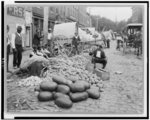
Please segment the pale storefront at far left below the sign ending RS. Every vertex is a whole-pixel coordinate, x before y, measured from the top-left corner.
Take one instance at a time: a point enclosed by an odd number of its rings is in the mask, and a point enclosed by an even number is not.
[[[6,9],[5,23],[9,25],[10,34],[16,32],[17,26],[21,26],[24,47],[31,47],[31,11],[26,11],[26,8],[21,6],[8,6]]]

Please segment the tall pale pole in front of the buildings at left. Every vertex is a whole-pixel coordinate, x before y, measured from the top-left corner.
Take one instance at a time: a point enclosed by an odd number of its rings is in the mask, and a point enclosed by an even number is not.
[[[48,18],[49,18],[49,7],[44,7],[44,40],[43,45],[47,43],[47,34],[48,34]]]

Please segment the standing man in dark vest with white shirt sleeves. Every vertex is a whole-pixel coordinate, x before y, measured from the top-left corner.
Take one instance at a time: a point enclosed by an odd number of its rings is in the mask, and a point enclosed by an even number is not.
[[[13,67],[20,68],[23,51],[23,40],[21,36],[22,27],[17,27],[17,32],[12,35],[12,49],[13,49]]]

